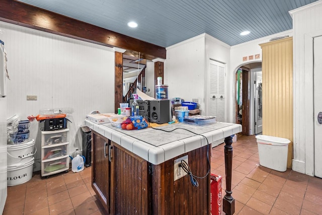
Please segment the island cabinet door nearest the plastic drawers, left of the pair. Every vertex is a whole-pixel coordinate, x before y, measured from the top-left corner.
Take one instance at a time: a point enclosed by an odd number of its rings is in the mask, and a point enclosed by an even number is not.
[[[110,213],[110,171],[109,148],[111,140],[92,133],[92,187],[102,202],[106,211]]]

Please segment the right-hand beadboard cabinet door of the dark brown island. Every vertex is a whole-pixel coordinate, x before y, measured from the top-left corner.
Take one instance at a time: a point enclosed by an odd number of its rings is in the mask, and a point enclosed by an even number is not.
[[[148,162],[112,142],[111,211],[115,214],[148,214]],[[115,208],[114,208],[115,207]]]

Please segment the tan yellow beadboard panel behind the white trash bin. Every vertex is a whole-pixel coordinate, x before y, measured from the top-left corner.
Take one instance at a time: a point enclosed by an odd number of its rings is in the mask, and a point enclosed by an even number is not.
[[[261,44],[263,49],[263,134],[293,141],[293,38]]]

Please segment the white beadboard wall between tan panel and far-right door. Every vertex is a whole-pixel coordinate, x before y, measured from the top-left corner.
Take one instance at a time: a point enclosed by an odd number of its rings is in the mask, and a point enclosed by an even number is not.
[[[314,175],[313,37],[322,35],[322,1],[295,9],[293,16],[294,150],[292,169]]]

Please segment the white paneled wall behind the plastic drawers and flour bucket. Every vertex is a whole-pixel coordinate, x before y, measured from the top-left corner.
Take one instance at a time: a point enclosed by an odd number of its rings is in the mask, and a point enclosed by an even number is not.
[[[26,120],[43,108],[72,108],[69,154],[82,148],[79,125],[93,110],[114,112],[114,51],[101,45],[62,37],[0,22],[8,52],[7,117]],[[36,95],[37,101],[27,101]],[[40,169],[41,136],[39,123],[31,122],[30,138],[38,149]]]

